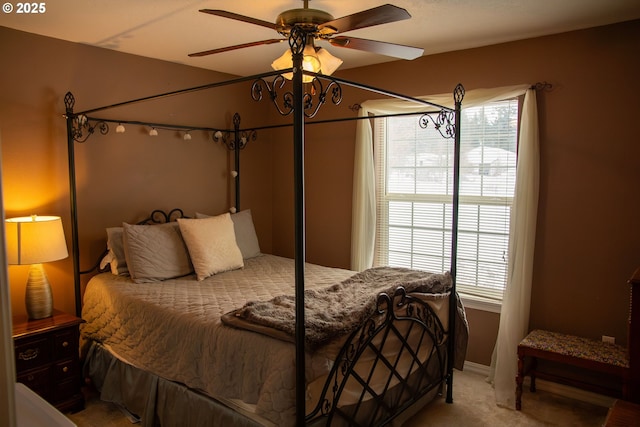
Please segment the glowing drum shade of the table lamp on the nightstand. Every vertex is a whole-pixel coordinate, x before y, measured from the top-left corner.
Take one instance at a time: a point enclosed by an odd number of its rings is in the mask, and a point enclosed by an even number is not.
[[[9,264],[40,264],[69,256],[59,216],[7,219],[5,236]]]

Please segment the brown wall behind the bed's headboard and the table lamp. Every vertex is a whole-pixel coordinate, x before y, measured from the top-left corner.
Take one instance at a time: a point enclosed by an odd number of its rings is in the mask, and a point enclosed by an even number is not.
[[[5,64],[0,81],[5,215],[61,216],[69,248],[65,93],[73,92],[74,111],[80,112],[232,77],[3,27],[0,58]],[[268,105],[247,102],[248,94],[247,85],[225,87],[94,115],[227,129],[239,111],[242,125],[263,124],[256,119],[264,117]],[[148,131],[127,125],[120,135],[112,124],[108,135],[75,144],[83,269],[104,250],[106,227],[139,221],[157,208],[180,207],[193,215],[196,211],[222,213],[235,204],[229,178],[232,154],[214,143],[210,133],[195,131],[191,141],[184,141],[177,132],[160,130],[159,136],[151,138]],[[255,211],[265,251],[271,249],[270,156],[268,134],[259,135],[241,154],[241,207]],[[71,258],[47,263],[45,270],[53,287],[54,307],[75,312]],[[9,267],[14,314],[25,313],[27,271],[27,266]]]

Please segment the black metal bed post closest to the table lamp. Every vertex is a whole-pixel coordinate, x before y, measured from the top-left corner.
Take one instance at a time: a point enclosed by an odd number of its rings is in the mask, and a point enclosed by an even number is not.
[[[69,157],[69,202],[71,208],[71,258],[73,260],[73,285],[76,303],[76,316],[82,314],[82,293],[80,292],[80,250],[78,249],[78,203],[76,194],[76,167],[73,120],[73,106],[76,100],[71,92],[64,97],[65,118],[67,120],[67,153]]]

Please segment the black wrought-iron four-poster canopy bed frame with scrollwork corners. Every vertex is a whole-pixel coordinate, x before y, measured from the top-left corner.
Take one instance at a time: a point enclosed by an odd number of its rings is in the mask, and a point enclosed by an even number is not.
[[[84,142],[89,136],[91,136],[96,130],[102,134],[108,132],[108,123],[132,123],[132,124],[145,124],[156,127],[167,127],[170,129],[185,129],[185,130],[206,130],[213,133],[213,139],[216,141],[223,141],[227,148],[234,150],[235,153],[235,170],[239,172],[239,152],[244,148],[250,139],[256,138],[256,132],[261,129],[271,129],[282,126],[291,125],[275,125],[256,127],[251,129],[240,128],[240,116],[236,114],[233,118],[234,128],[232,130],[215,129],[215,128],[202,128],[192,126],[178,126],[178,125],[165,125],[159,123],[149,122],[137,122],[127,120],[111,120],[96,118],[92,115],[107,109],[117,108],[124,105],[130,105],[139,102],[152,101],[159,98],[165,98],[174,95],[180,95],[189,92],[200,91],[204,89],[212,89],[216,87],[222,87],[226,85],[232,85],[242,82],[253,81],[251,86],[251,96],[254,100],[260,101],[264,97],[264,91],[268,92],[268,95],[273,104],[278,109],[279,113],[283,116],[292,115],[293,117],[293,143],[294,143],[294,210],[295,210],[295,301],[303,301],[305,297],[305,186],[304,186],[304,141],[305,141],[305,124],[316,123],[330,123],[343,120],[357,120],[358,118],[346,118],[346,119],[334,119],[326,121],[312,121],[305,123],[305,119],[315,117],[319,108],[330,98],[334,104],[339,104],[342,100],[342,86],[354,87],[356,89],[365,90],[372,93],[378,93],[388,97],[406,100],[408,102],[423,104],[425,106],[425,112],[420,118],[421,125],[426,125],[431,121],[435,128],[445,138],[453,139],[454,141],[454,165],[453,165],[453,197],[452,197],[452,225],[451,225],[451,269],[450,276],[452,279],[450,296],[449,296],[449,310],[448,310],[448,331],[442,327],[439,321],[437,321],[436,332],[431,330],[429,334],[433,335],[435,341],[444,342],[444,335],[446,338],[446,362],[441,364],[446,370],[446,374],[443,379],[447,384],[447,396],[446,401],[451,403],[453,401],[452,394],[452,380],[453,380],[453,367],[454,367],[454,354],[455,354],[455,325],[459,322],[457,318],[457,309],[459,307],[459,301],[457,299],[455,288],[456,277],[456,254],[457,254],[457,228],[458,228],[458,192],[459,192],[459,165],[460,165],[460,111],[461,103],[464,97],[464,88],[462,85],[458,85],[453,93],[455,108],[447,108],[439,105],[435,105],[423,100],[412,98],[409,96],[393,93],[390,91],[378,89],[372,86],[358,84],[355,82],[347,81],[335,77],[327,77],[321,74],[307,72],[302,70],[302,52],[307,39],[304,29],[294,28],[291,31],[289,37],[289,45],[292,52],[293,67],[288,70],[281,70],[278,72],[264,73],[256,76],[242,77],[230,81],[213,83],[209,85],[203,85],[198,87],[192,87],[183,90],[177,90],[158,95],[153,95],[144,98],[138,98],[130,101],[125,101],[113,105],[108,105],[100,108],[94,108],[82,112],[74,112],[75,99],[69,92],[65,96],[66,107],[66,121],[67,121],[67,135],[68,135],[68,153],[69,153],[69,179],[70,179],[70,201],[71,201],[71,216],[72,216],[72,245],[73,245],[73,266],[74,266],[74,281],[75,281],[75,295],[76,295],[76,311],[78,315],[82,312],[82,292],[80,284],[80,262],[79,262],[79,243],[78,243],[78,216],[77,216],[77,185],[75,175],[75,158],[74,158],[74,144],[76,142]],[[282,89],[285,85],[285,80],[281,73],[291,72],[292,78],[292,92],[285,92],[282,97],[282,101],[278,100],[278,90]],[[314,95],[305,92],[305,86],[303,84],[303,75],[313,76],[313,82],[311,86],[314,89]],[[273,78],[268,81],[267,79]],[[326,87],[323,84],[326,83]],[[279,103],[281,102],[281,103]],[[436,110],[436,111],[434,111]],[[236,177],[239,179],[239,175]],[[239,193],[239,181],[236,181],[235,185],[235,203],[236,208],[240,206],[240,193]],[[318,420],[318,414],[322,414],[324,418],[323,422],[331,424],[332,420],[341,419],[342,422],[346,422],[349,425],[357,425],[355,416],[351,414],[340,414],[340,407],[338,400],[344,387],[344,380],[350,376],[356,376],[355,369],[349,366],[348,363],[357,362],[359,352],[362,351],[362,347],[365,345],[371,346],[372,340],[380,332],[375,328],[382,328],[384,333],[387,334],[389,329],[396,328],[393,322],[398,320],[412,320],[421,324],[432,323],[435,316],[431,312],[431,309],[427,304],[423,303],[419,298],[415,298],[410,294],[404,292],[403,289],[396,291],[395,295],[391,298],[388,295],[381,294],[377,303],[377,314],[385,314],[387,321],[378,325],[372,321],[369,326],[363,326],[354,332],[346,341],[346,345],[340,351],[338,358],[335,361],[335,365],[331,370],[331,374],[327,379],[324,390],[323,404],[318,404],[318,407],[313,411],[311,415],[305,417],[305,305],[295,304],[295,379],[296,379],[296,425],[305,425],[314,420]],[[406,310],[402,315],[398,315],[395,309],[398,307],[404,307]],[[461,307],[461,306],[460,306]],[[437,319],[436,319],[437,320]],[[428,325],[433,328],[433,325]],[[422,327],[425,327],[424,325]],[[425,327],[426,328],[426,327]],[[395,329],[394,329],[395,330]],[[398,333],[396,333],[398,334]],[[424,334],[424,332],[423,332]],[[400,334],[402,335],[402,334]],[[439,336],[437,336],[439,335]],[[408,333],[407,333],[408,336]],[[405,339],[407,338],[405,336]],[[385,335],[386,337],[386,335]],[[402,337],[400,337],[402,339]],[[385,338],[386,339],[386,338]],[[383,340],[384,341],[384,340]],[[400,352],[407,349],[407,352],[411,353],[415,349],[411,349],[410,345],[406,342],[403,343],[403,347]],[[438,354],[441,357],[442,354]],[[391,365],[393,362],[389,362],[383,355],[378,354],[376,363],[384,363]],[[422,364],[417,354],[413,354],[414,361],[412,363]],[[442,362],[442,361],[441,361]],[[397,363],[397,362],[396,362]],[[389,367],[390,369],[391,366]],[[416,394],[409,398],[398,397],[393,405],[389,405],[384,400],[384,396],[374,392],[371,387],[366,384],[367,379],[356,378],[356,380],[362,383],[363,391],[362,395],[369,393],[373,395],[374,406],[385,406],[385,412],[382,415],[374,416],[374,420],[380,424],[387,424],[397,417],[402,411],[406,410],[411,405],[415,404],[421,396],[421,393],[426,391],[432,391],[434,385],[429,385],[428,390],[416,391],[412,387],[411,383],[414,379],[401,377],[398,373],[393,371],[393,375],[398,377],[397,380],[401,383],[401,388],[404,389],[406,394],[407,390],[409,394]],[[340,380],[344,380],[342,383]],[[396,378],[394,378],[396,381]],[[442,382],[440,387],[442,387]],[[419,387],[418,387],[419,388]],[[389,384],[384,388],[384,391],[390,389]],[[333,393],[333,400],[330,395]],[[402,393],[400,393],[402,394]],[[337,397],[336,397],[337,396]],[[361,400],[356,406],[360,406]],[[394,406],[395,405],[395,406]],[[375,411],[379,411],[375,409]],[[357,412],[357,409],[356,411]],[[355,413],[354,412],[354,413]],[[337,415],[336,415],[337,414]],[[315,418],[314,418],[315,417]]]

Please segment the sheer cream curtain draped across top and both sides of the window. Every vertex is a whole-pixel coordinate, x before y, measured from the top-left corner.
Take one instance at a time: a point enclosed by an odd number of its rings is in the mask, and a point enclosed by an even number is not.
[[[517,371],[516,348],[529,326],[531,276],[538,210],[539,143],[535,91],[530,85],[474,89],[465,93],[462,108],[492,101],[524,97],[520,119],[516,191],[511,213],[507,287],[502,302],[498,339],[491,362],[491,380],[496,402],[513,406]],[[419,97],[453,108],[453,93]],[[365,101],[359,115],[426,111],[425,105],[397,99]],[[359,120],[353,176],[351,269],[362,271],[373,265],[376,229],[373,132],[369,120]]]

